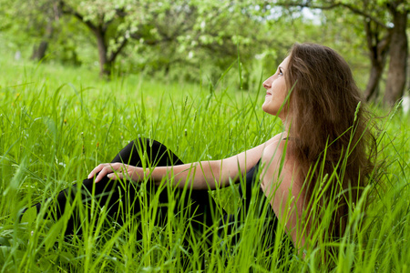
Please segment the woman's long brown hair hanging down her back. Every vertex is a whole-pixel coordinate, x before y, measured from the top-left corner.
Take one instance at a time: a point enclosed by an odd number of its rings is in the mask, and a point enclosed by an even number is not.
[[[361,196],[365,177],[374,169],[371,114],[350,67],[327,46],[293,45],[285,80],[292,87],[289,147],[301,170],[305,204],[322,190],[320,207],[336,205],[328,235],[341,238],[349,207]],[[316,163],[320,166],[314,167]],[[323,176],[334,171],[338,177],[329,181],[331,187],[319,189]]]

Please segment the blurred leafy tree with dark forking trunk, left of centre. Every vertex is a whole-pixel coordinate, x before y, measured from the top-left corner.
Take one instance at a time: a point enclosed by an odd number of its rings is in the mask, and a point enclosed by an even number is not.
[[[235,1],[59,0],[59,4],[63,14],[75,16],[95,36],[101,75],[110,75],[118,55],[131,40],[137,44],[167,44],[186,50],[191,46],[215,48],[221,45],[220,51],[237,55],[236,45],[230,46],[234,50],[226,50],[233,34],[226,31],[232,23],[229,20],[231,14],[225,8],[236,9],[239,5]],[[223,19],[225,25],[207,28],[206,33],[200,26],[213,21],[221,24]],[[180,45],[174,44],[177,41]],[[178,60],[180,58],[174,58],[174,61]]]

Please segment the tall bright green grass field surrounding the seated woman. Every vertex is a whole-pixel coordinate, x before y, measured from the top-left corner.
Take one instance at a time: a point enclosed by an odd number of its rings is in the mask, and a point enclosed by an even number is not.
[[[8,60],[0,60],[0,66],[2,272],[410,271],[410,116],[393,111],[380,120],[384,190],[369,187],[375,201],[366,219],[358,204],[351,237],[335,245],[339,254],[327,265],[315,255],[321,243],[306,249],[305,258],[293,254],[279,261],[278,251],[267,256],[258,243],[260,224],[252,219],[240,230],[241,241],[228,243],[231,255],[220,251],[228,235],[211,236],[208,251],[201,236],[190,237],[187,247],[188,219],[172,218],[167,227],[155,227],[149,211],[141,215],[145,221],[129,221],[126,227],[101,227],[90,217],[82,237],[64,240],[64,218],[55,224],[29,211],[19,222],[19,210],[81,181],[130,140],[155,138],[191,162],[256,146],[281,132],[282,124],[261,111],[264,93],[258,86],[245,92],[223,81],[191,85],[144,75],[106,82],[94,71],[69,67]],[[236,211],[237,187],[212,194],[228,212]],[[132,232],[136,225],[143,226],[142,240]],[[280,244],[277,240],[275,248]]]

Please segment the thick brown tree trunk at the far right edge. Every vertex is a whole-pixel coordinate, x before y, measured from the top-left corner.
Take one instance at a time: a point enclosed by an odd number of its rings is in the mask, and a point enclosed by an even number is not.
[[[405,92],[406,62],[408,41],[405,34],[408,11],[399,11],[397,6],[390,7],[393,15],[392,44],[390,47],[390,63],[385,86],[384,103],[392,106]]]

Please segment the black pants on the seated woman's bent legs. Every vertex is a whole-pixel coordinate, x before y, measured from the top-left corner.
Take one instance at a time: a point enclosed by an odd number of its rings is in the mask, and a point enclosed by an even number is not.
[[[142,167],[143,163],[158,167],[182,164],[179,157],[173,154],[167,147],[158,141],[147,138],[131,141],[111,161],[111,163],[116,162],[137,167]],[[156,225],[163,227],[167,223],[170,211],[167,206],[169,204],[169,193],[172,194],[173,201],[177,201],[177,206],[173,209],[173,213],[177,217],[180,214],[184,214],[185,218],[190,218],[190,225],[198,231],[204,231],[204,227],[210,227],[220,218],[220,213],[218,213],[208,190],[167,188],[166,186],[155,186],[149,182],[138,183],[128,180],[110,180],[108,177],[104,177],[98,183],[94,183],[93,179],[85,179],[81,185],[75,184],[61,191],[54,202],[51,202],[46,217],[53,217],[56,220],[60,218],[65,213],[67,204],[72,204],[78,189],[81,190],[81,202],[87,207],[88,215],[91,214],[91,200],[95,200],[95,204],[99,208],[107,207],[107,218],[109,221],[111,223],[116,222],[119,225],[123,225],[127,220],[130,220],[126,218],[129,216],[135,217],[138,221],[138,215],[143,206],[149,206],[149,197],[158,195],[160,206],[158,206],[154,219]],[[144,202],[141,203],[140,193],[142,189],[145,189],[147,197],[144,197]],[[35,206],[38,212],[41,204],[38,203]],[[100,210],[97,209],[95,211],[98,212]],[[98,217],[96,213],[94,215]],[[78,209],[75,207],[67,222],[66,235],[81,234],[80,223],[81,217]],[[141,231],[138,231],[138,237],[141,237]]]

